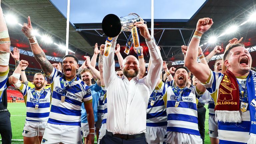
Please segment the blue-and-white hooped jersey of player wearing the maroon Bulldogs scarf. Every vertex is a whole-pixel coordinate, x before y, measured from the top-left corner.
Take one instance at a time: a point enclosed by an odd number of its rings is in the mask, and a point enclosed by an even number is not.
[[[217,104],[218,99],[218,88],[220,82],[223,78],[223,74],[212,71],[207,82],[202,83],[206,89],[211,93],[211,96]],[[245,83],[243,80],[237,78],[241,86],[244,88]],[[246,78],[245,78],[246,82]],[[240,97],[240,104],[242,98]],[[240,106],[239,106],[240,107]],[[251,127],[251,118],[250,118],[250,107],[247,108],[246,112],[241,112],[240,115],[242,118],[241,123],[229,123],[229,122],[220,122],[218,121],[218,133],[220,144],[244,144],[247,143],[250,138],[250,127]]]

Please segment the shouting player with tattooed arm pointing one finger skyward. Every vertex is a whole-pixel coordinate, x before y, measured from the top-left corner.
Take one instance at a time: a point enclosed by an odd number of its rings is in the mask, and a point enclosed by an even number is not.
[[[31,50],[43,72],[51,79],[52,86],[51,111],[42,143],[81,144],[81,104],[84,103],[87,111],[89,129],[94,128],[94,116],[90,88],[76,76],[79,68],[78,59],[74,55],[64,56],[63,73],[53,68],[32,34],[32,30],[30,17],[28,17],[28,24],[23,24],[22,32],[28,37]],[[94,134],[89,134],[87,139],[92,144]]]

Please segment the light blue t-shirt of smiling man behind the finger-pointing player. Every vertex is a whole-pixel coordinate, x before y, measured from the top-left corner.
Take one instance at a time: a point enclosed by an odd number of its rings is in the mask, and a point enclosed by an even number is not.
[[[98,120],[97,119],[98,103],[99,103],[99,97],[102,89],[100,86],[97,85],[97,83],[89,86],[89,88],[91,88],[94,121],[96,122]],[[82,104],[81,106],[81,123],[88,123],[84,104]]]

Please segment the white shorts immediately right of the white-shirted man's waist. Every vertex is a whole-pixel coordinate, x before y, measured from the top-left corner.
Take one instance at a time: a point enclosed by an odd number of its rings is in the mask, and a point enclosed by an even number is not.
[[[150,127],[146,126],[146,141],[148,144],[163,143],[167,126]]]

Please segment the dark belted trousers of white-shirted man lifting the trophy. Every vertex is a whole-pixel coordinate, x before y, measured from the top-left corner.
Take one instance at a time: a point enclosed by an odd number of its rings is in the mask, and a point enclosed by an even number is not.
[[[117,137],[112,137],[110,135],[105,135],[101,140],[100,144],[148,144],[146,142],[146,137],[139,137],[135,139],[121,139]]]

